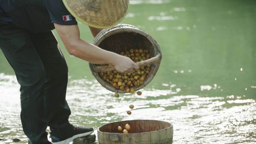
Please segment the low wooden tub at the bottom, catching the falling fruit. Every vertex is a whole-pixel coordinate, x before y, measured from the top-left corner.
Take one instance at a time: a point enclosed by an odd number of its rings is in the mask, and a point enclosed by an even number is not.
[[[128,134],[118,131],[118,126],[125,129],[129,124]],[[172,144],[173,125],[159,120],[128,120],[114,122],[98,128],[99,144]]]

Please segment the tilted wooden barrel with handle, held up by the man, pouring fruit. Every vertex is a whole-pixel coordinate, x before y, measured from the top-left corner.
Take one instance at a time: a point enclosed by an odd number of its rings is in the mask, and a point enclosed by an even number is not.
[[[133,25],[119,24],[115,27],[104,29],[95,37],[93,44],[115,53],[120,53],[133,48],[149,49],[150,58],[160,55],[160,60],[155,64],[151,64],[149,74],[147,75],[144,84],[135,88],[135,91],[144,88],[153,79],[158,71],[162,58],[162,53],[158,43],[145,31],[140,30]],[[117,90],[112,85],[101,79],[98,72],[95,71],[96,66],[98,65],[89,62],[92,75],[104,88],[112,92],[126,93],[125,90]]]

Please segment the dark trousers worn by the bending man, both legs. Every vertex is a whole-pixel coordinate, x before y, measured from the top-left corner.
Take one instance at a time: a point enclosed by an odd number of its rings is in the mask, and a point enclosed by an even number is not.
[[[68,68],[51,31],[31,33],[0,21],[0,49],[13,68],[20,87],[21,123],[33,142],[45,143],[47,126],[68,125],[65,100]]]

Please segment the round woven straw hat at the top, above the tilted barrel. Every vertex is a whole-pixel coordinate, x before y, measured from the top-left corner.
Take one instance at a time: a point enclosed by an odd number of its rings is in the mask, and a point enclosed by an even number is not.
[[[95,28],[109,28],[127,14],[129,0],[63,0],[68,11],[79,21]]]

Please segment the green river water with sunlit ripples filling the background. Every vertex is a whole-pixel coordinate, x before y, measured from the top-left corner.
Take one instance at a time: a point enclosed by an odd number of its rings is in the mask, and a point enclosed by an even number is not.
[[[115,98],[57,36],[69,68],[71,123],[97,133],[115,121],[164,120],[173,124],[174,144],[256,143],[255,0],[130,0],[122,23],[159,43],[163,58],[155,78],[141,96]],[[79,27],[92,42],[88,27]],[[19,113],[19,85],[0,52],[0,143],[27,142]]]

